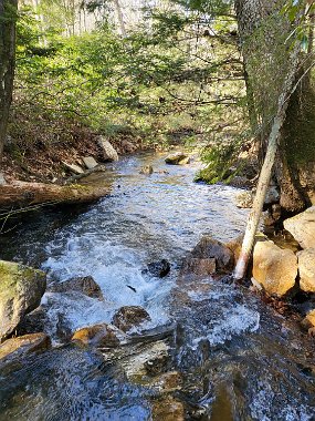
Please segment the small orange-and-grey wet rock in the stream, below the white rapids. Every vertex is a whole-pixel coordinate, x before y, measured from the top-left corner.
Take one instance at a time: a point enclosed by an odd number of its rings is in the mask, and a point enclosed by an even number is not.
[[[76,330],[72,337],[73,341],[99,348],[115,348],[119,346],[120,339],[119,330],[107,324],[84,327]]]

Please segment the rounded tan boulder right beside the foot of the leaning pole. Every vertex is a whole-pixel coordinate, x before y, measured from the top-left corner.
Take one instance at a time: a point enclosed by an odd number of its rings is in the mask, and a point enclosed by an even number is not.
[[[294,285],[297,258],[290,249],[273,242],[258,242],[253,253],[253,278],[270,295],[283,296]]]

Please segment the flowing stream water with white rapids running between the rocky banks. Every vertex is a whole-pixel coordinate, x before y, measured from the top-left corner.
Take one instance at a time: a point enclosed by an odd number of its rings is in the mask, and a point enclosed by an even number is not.
[[[139,174],[148,164],[157,173]],[[233,188],[195,184],[195,172],[166,166],[162,155],[127,157],[98,175],[113,191],[97,204],[33,218],[14,243],[2,236],[1,258],[41,266],[51,281],[91,275],[105,300],[45,294],[55,347],[0,372],[0,420],[177,420],[181,404],[186,419],[315,419],[314,347],[297,326],[242,287],[177,281],[180,260],[201,235],[231,239],[246,218]],[[161,258],[171,271],[158,279],[145,269]],[[111,322],[128,305],[149,312],[147,332],[166,333],[111,352],[62,345],[61,320],[74,331]],[[139,376],[148,359],[179,372],[180,386],[167,393],[154,383],[157,372]]]

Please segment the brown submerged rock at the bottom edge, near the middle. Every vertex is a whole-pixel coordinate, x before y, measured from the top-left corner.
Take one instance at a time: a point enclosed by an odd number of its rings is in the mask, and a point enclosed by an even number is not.
[[[172,397],[167,397],[153,403],[154,421],[183,421],[183,404]]]

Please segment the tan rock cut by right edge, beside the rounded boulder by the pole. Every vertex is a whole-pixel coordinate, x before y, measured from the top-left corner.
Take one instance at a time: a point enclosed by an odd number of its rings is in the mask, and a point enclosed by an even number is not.
[[[300,288],[305,292],[315,292],[315,248],[297,253]]]

